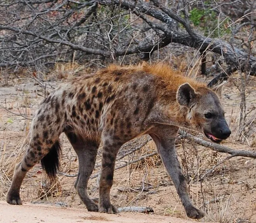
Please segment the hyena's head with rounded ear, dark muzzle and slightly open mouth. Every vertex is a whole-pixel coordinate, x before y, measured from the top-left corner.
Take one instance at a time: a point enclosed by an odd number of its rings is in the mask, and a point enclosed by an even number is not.
[[[231,134],[217,96],[221,95],[221,89],[222,86],[214,92],[202,86],[195,91],[189,83],[184,83],[177,91],[178,103],[187,107],[189,128],[205,134],[213,142],[221,142]]]

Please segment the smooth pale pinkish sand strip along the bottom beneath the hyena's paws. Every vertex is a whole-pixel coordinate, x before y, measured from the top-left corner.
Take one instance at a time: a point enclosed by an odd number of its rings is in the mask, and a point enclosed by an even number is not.
[[[0,202],[1,223],[195,223],[175,217],[138,213],[102,214],[82,209],[63,208],[38,204],[21,206]]]

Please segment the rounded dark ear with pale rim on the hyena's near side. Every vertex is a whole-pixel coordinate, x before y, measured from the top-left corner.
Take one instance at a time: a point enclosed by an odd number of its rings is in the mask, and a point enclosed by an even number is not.
[[[196,97],[195,90],[189,83],[180,85],[177,91],[177,101],[180,105],[190,107]]]

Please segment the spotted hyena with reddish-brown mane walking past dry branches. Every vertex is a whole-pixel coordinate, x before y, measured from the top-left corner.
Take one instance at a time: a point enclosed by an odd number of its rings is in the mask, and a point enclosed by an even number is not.
[[[50,177],[55,176],[59,135],[65,132],[79,159],[75,188],[80,199],[88,211],[117,213],[109,192],[118,149],[132,138],[149,134],[187,216],[200,219],[204,213],[193,206],[177,159],[175,138],[179,127],[202,132],[214,142],[231,134],[216,92],[164,64],[111,65],[62,85],[40,104],[34,116],[31,140],[15,167],[7,202],[22,204],[21,183],[38,161]],[[88,196],[87,184],[100,143],[103,148],[97,205]]]

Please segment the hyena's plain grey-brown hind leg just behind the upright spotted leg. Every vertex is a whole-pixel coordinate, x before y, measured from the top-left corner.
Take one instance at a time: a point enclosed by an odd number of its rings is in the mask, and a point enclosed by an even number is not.
[[[65,132],[76,151],[79,162],[78,177],[75,182],[76,191],[89,212],[97,212],[97,204],[87,193],[88,180],[94,170],[99,144],[95,141],[82,139],[73,132]]]

